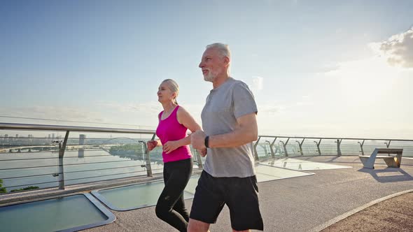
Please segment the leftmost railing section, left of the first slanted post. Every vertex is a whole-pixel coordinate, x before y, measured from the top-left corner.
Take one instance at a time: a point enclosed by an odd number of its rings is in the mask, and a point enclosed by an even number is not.
[[[57,187],[61,131],[8,131],[0,138],[0,180],[5,191]],[[13,134],[14,136],[9,136]],[[49,136],[50,135],[50,136]]]

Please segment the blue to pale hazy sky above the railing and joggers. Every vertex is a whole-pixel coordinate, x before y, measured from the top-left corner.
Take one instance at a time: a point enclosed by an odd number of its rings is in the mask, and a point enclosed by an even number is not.
[[[155,129],[162,80],[197,122],[205,46],[232,51],[260,135],[413,139],[413,1],[0,1],[0,122]],[[40,120],[40,119],[49,120]],[[0,131],[0,135],[2,132]]]

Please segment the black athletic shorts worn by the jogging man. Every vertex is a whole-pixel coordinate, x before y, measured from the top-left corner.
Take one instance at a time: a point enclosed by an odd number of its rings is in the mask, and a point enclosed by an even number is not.
[[[225,204],[230,209],[232,229],[264,229],[255,175],[242,178],[213,177],[202,171],[189,217],[214,224]]]

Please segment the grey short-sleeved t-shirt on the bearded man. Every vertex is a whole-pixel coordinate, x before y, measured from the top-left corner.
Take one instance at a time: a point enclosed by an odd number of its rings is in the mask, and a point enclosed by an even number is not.
[[[254,96],[240,80],[228,78],[212,89],[202,110],[202,128],[207,136],[234,131],[237,118],[257,113]],[[253,143],[239,147],[208,148],[204,171],[214,177],[249,177],[255,175]]]

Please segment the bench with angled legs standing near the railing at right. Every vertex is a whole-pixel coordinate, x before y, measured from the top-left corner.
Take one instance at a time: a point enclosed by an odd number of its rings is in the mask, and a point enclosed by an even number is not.
[[[395,156],[377,156],[377,154],[395,154]],[[374,161],[376,159],[384,159],[388,167],[391,168],[400,168],[400,164],[402,162],[402,149],[394,149],[394,148],[376,148],[374,152],[368,155],[360,155],[360,161],[363,163],[365,168],[372,168],[374,169]]]

